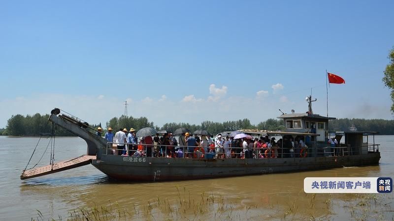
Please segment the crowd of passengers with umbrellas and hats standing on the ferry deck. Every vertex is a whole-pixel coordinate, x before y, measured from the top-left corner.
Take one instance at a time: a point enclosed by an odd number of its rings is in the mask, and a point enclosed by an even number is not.
[[[98,136],[101,136],[101,130],[98,129]],[[155,137],[142,137],[138,142],[133,128],[130,131],[126,128],[119,129],[116,134],[112,133],[112,128],[108,128],[104,138],[116,143],[108,154],[137,157],[199,158],[202,156],[201,153],[213,153],[216,158],[294,158],[306,157],[307,148],[303,136],[293,139],[289,135],[275,141],[276,138],[268,136],[234,139],[229,136],[223,138],[219,134],[214,139],[210,135],[192,136],[185,133],[177,140],[172,133],[167,133],[163,136],[156,134]]]

